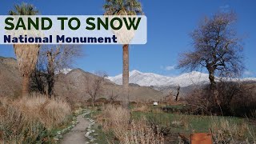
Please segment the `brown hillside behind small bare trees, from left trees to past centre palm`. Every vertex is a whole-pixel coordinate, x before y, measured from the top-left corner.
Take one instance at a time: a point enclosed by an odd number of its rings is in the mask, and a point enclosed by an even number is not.
[[[71,70],[68,74],[59,75],[55,85],[56,94],[64,97],[72,96],[81,100],[88,99],[90,96],[86,94],[86,85],[93,82],[95,77],[97,76],[81,69]],[[87,80],[90,82],[87,82]],[[98,98],[110,98],[112,90],[114,95],[118,94],[118,100],[122,100],[122,86],[116,85],[108,79],[104,82],[102,93]],[[150,87],[130,86],[130,101],[158,100],[162,96],[161,92]]]

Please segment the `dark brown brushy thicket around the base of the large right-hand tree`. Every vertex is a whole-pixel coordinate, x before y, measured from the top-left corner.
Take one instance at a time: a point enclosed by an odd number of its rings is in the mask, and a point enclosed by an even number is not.
[[[194,114],[218,114],[254,118],[255,85],[238,82],[218,82],[219,104],[210,98],[209,87],[195,89],[186,97]]]

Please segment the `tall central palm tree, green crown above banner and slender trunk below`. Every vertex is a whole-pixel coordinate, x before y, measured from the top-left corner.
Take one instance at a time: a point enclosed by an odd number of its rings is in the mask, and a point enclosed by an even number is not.
[[[143,14],[138,0],[106,0],[104,15],[139,15]],[[122,46],[122,87],[126,97],[124,105],[128,106],[129,97],[129,45]]]

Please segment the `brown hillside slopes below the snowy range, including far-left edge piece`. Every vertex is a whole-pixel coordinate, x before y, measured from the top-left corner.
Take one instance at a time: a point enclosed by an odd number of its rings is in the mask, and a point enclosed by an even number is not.
[[[87,78],[88,77],[88,78]],[[81,69],[71,70],[68,74],[58,74],[55,83],[55,94],[78,101],[90,98],[86,94],[86,85],[93,82],[97,76]],[[87,82],[89,79],[90,82]],[[0,96],[14,97],[21,94],[22,77],[14,58],[0,57]],[[110,98],[112,94],[118,94],[118,100],[122,100],[122,86],[118,86],[106,79],[102,93],[98,98]],[[148,101],[162,98],[158,90],[146,86],[130,85],[130,101]]]

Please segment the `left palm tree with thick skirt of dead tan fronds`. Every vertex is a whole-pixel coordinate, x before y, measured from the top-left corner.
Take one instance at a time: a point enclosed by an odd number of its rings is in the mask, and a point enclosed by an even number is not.
[[[22,3],[14,5],[10,15],[36,15],[38,10],[33,5]],[[22,73],[22,96],[29,94],[30,75],[38,60],[39,45],[15,44],[14,53],[17,57],[18,69]]]

